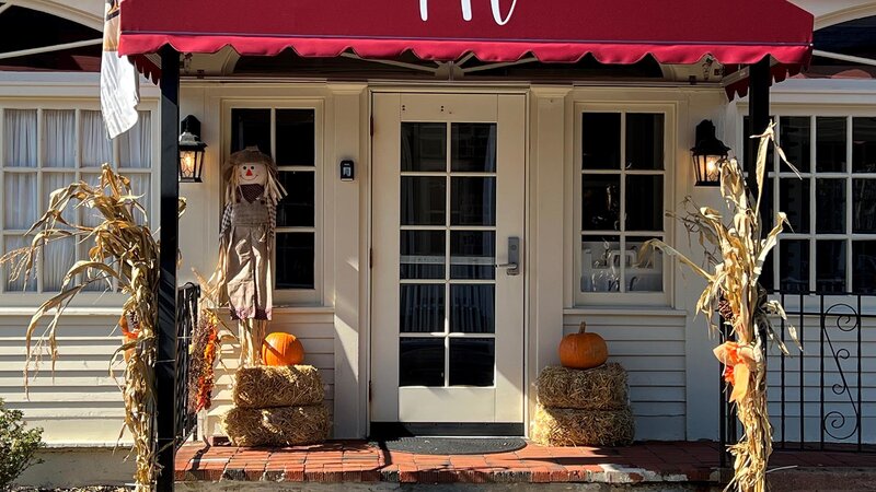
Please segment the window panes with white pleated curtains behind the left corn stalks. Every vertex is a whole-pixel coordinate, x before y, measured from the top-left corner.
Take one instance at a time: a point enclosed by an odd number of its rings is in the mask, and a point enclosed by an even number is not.
[[[25,237],[24,233],[45,212],[49,195],[79,180],[97,185],[104,163],[131,179],[132,192],[141,196],[140,203],[154,218],[153,124],[152,113],[141,110],[131,130],[110,140],[96,103],[0,107],[0,250],[28,245],[32,237]],[[101,222],[95,211],[74,204],[68,206],[65,215],[68,222],[89,225]],[[140,212],[136,213],[139,220],[145,220]],[[39,256],[37,274],[27,282],[23,277],[11,281],[10,267],[5,267],[0,272],[0,293],[57,292],[67,270],[77,258],[88,256],[89,247],[72,237],[53,241]],[[103,291],[106,286],[95,283],[90,290]]]

